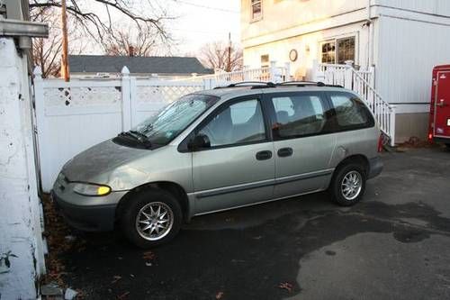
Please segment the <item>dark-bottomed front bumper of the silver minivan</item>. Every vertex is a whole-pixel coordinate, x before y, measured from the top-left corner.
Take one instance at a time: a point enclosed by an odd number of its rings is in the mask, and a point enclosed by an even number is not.
[[[78,195],[70,184],[55,183],[51,198],[66,222],[84,232],[107,232],[114,229],[116,207],[125,195],[112,192],[104,196]]]

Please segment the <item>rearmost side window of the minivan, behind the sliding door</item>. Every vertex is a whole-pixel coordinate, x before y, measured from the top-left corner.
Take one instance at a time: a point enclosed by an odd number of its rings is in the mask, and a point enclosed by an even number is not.
[[[329,98],[336,112],[334,116],[334,127],[336,131],[374,126],[374,118],[356,95],[329,93]]]

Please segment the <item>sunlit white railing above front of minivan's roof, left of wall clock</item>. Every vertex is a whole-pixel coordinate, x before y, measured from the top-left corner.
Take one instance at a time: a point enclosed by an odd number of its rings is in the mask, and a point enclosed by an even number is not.
[[[242,82],[242,81],[270,81],[270,82],[284,82],[291,80],[290,64],[284,64],[284,67],[276,67],[276,62],[272,61],[269,67],[264,68],[247,68],[233,72],[217,72],[216,74],[205,76],[194,76],[184,78],[184,81],[203,81],[210,82],[210,87],[224,86],[227,84]]]

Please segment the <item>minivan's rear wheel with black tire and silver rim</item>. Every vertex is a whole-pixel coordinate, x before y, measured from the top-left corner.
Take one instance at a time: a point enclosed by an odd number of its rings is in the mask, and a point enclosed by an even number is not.
[[[365,194],[365,181],[365,168],[360,164],[349,163],[338,168],[329,186],[334,202],[341,206],[356,205]],[[350,185],[347,192],[346,183]]]

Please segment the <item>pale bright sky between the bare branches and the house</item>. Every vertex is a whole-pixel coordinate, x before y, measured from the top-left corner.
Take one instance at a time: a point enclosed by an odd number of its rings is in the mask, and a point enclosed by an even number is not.
[[[130,0],[133,7],[147,9],[144,15],[166,14],[175,17],[165,21],[165,28],[175,40],[170,48],[170,54],[175,56],[195,55],[205,43],[213,41],[228,41],[231,33],[233,44],[240,44],[240,0],[147,0],[155,4],[153,10],[144,0]],[[102,19],[107,20],[108,14],[104,5],[86,2],[89,9],[94,10]],[[111,9],[113,23],[129,28],[129,18]],[[92,45],[84,50],[84,54],[102,54],[98,45]],[[87,53],[91,52],[91,53]]]

